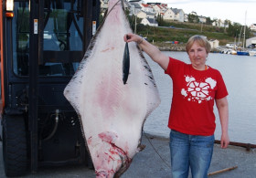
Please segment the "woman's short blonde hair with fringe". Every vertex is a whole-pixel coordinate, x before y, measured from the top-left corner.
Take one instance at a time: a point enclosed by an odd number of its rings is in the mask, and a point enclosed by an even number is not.
[[[190,37],[187,41],[187,45],[186,45],[186,51],[187,51],[187,54],[188,54],[188,51],[190,50],[190,48],[193,46],[193,44],[197,42],[197,44],[200,46],[200,47],[205,47],[206,48],[206,51],[207,53],[210,52],[210,44],[207,40],[207,37],[203,37],[203,36],[193,36],[193,37]]]

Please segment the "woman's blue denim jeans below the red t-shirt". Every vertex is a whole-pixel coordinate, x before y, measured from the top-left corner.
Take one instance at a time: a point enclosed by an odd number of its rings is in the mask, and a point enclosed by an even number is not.
[[[173,178],[187,178],[189,167],[193,178],[207,178],[214,145],[214,135],[188,135],[170,132]]]

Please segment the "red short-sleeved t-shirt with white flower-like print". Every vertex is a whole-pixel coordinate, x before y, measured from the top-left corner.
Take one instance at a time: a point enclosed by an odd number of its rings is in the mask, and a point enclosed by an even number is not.
[[[216,124],[214,100],[228,95],[217,69],[197,70],[170,58],[165,70],[173,79],[173,99],[168,127],[190,135],[212,135]]]

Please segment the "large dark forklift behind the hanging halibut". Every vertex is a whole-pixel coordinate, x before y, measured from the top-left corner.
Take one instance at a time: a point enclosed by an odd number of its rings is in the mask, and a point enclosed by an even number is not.
[[[1,138],[6,176],[90,164],[65,99],[99,24],[100,0],[1,0]]]

